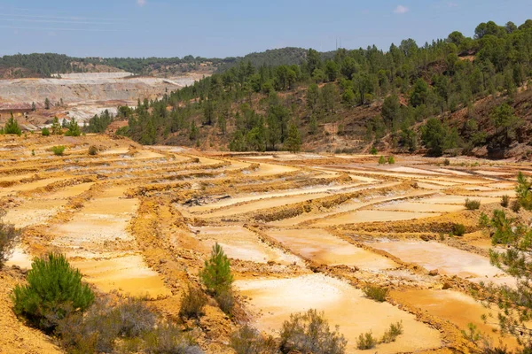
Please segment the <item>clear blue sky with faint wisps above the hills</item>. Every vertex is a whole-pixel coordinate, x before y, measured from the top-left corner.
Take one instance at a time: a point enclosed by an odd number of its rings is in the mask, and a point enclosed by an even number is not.
[[[0,0],[0,55],[242,56],[286,46],[334,50],[413,38],[419,45],[479,23],[518,26],[530,0]]]

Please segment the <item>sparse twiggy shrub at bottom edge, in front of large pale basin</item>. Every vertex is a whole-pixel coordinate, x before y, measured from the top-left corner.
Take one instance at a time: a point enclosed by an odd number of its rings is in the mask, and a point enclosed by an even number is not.
[[[347,341],[338,332],[332,332],[323,312],[309,310],[290,315],[280,333],[280,350],[313,354],[343,354]]]

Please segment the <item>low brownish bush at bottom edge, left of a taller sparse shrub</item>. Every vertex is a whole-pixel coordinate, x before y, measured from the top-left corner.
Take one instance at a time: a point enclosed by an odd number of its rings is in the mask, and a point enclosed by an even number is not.
[[[263,338],[259,331],[248,325],[240,327],[231,335],[230,345],[237,354],[274,354],[278,352],[272,337]]]

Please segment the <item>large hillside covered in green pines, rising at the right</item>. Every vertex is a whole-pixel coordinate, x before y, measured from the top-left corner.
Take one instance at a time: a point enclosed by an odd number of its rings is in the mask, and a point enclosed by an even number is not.
[[[532,20],[481,23],[419,46],[308,50],[301,65],[240,61],[121,109],[119,134],[227,150],[399,150],[532,156]]]

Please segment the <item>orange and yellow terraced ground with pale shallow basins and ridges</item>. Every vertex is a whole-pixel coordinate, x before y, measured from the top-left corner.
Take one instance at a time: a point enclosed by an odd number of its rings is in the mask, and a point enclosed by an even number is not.
[[[0,145],[0,205],[22,229],[8,262],[15,267],[0,281],[0,352],[60,352],[12,314],[16,271],[31,258],[65,253],[95,289],[145,296],[178,318],[215,242],[231,258],[238,304],[230,318],[209,301],[195,333],[206,352],[231,353],[231,332],[244,321],[275,334],[291,313],[310,308],[340,326],[348,353],[364,352],[356,349],[362,333],[380,337],[397,321],[403,335],[379,353],[475,350],[460,332],[470,322],[493,342],[517,345],[481,320],[497,310],[470,294],[481,281],[513,285],[489,264],[478,219],[501,196],[515,197],[515,176],[529,166],[206,153],[104,135],[0,135]],[[54,145],[66,146],[64,156],[51,153]],[[98,155],[89,155],[91,145]],[[465,210],[466,198],[481,208]],[[456,224],[464,236],[450,235]],[[390,289],[387,301],[366,297],[369,284]]]

